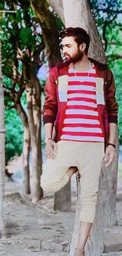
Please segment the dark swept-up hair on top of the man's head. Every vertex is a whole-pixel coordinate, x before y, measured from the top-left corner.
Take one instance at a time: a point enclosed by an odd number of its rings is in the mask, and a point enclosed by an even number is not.
[[[85,53],[87,54],[88,48],[90,45],[90,36],[83,28],[65,28],[60,34],[59,37],[64,39],[66,36],[73,36],[78,46],[81,43],[86,43]]]

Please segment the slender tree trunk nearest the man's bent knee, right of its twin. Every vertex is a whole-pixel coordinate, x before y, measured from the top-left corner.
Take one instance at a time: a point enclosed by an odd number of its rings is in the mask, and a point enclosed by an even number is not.
[[[32,172],[32,183],[31,183],[31,194],[32,202],[36,203],[41,198],[41,188],[40,188],[40,175],[38,171],[38,148],[36,139],[36,129],[33,116],[33,106],[32,106],[32,95],[33,88],[31,85],[26,84],[27,92],[27,105],[28,105],[28,124],[30,128],[31,135],[31,172]]]

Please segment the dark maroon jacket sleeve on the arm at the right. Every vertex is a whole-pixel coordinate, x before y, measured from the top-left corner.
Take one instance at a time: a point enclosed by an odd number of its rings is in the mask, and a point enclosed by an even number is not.
[[[106,107],[109,123],[117,124],[118,104],[116,102],[116,87],[113,72],[107,70],[107,80],[105,83]]]

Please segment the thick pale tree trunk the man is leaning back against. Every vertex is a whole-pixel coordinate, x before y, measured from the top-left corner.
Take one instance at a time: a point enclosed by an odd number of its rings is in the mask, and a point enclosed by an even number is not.
[[[87,32],[89,32],[91,36],[91,46],[89,50],[89,56],[91,58],[95,58],[102,63],[105,63],[105,53],[102,47],[102,41],[98,35],[98,29],[96,27],[94,18],[92,17],[90,6],[88,5],[87,0],[71,0],[70,6],[68,6],[68,1],[63,0],[64,6],[64,14],[65,14],[65,26],[68,27],[82,27]],[[82,13],[82,15],[81,15]],[[107,224],[115,224],[116,216],[115,216],[115,205],[116,205],[116,185],[113,187],[113,191],[111,191],[111,186],[108,184],[116,184],[116,166],[117,158],[113,163],[113,169],[111,172],[104,168],[102,168],[100,182],[99,182],[99,192],[98,192],[98,205],[96,210],[96,217],[94,221],[94,225],[91,232],[91,238],[87,243],[87,256],[100,256],[102,255],[103,250],[103,236],[104,236],[104,223],[105,223],[105,213],[107,214]],[[106,189],[108,187],[108,189]],[[114,200],[108,200],[108,204],[106,204],[105,198],[111,198],[111,195],[114,196]],[[114,201],[114,202],[113,202]],[[79,201],[77,205],[76,211],[76,224],[75,229],[72,235],[72,243],[71,243],[71,251],[70,256],[74,255],[74,250],[76,243],[78,241],[78,224],[79,224],[79,211],[81,207],[79,206]],[[109,213],[110,216],[109,216]]]

